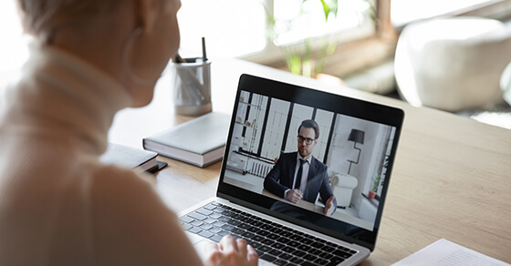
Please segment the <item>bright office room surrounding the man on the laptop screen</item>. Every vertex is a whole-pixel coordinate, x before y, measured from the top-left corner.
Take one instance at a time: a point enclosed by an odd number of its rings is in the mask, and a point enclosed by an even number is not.
[[[319,193],[312,202],[295,204],[264,185],[281,155],[297,151],[297,128],[306,119],[318,124],[312,157],[327,167],[328,186],[337,201],[337,209],[328,217],[372,230],[395,134],[391,126],[242,91],[233,139],[226,150],[224,182],[322,213],[326,200]]]

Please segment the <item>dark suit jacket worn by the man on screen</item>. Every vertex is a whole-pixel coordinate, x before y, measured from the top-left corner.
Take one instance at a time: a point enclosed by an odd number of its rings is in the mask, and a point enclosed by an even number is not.
[[[284,191],[291,189],[295,169],[297,168],[297,152],[283,153],[276,161],[265,179],[265,189],[278,197],[285,198]],[[303,200],[314,203],[318,193],[321,202],[325,203],[331,196],[332,189],[328,183],[327,166],[312,157],[308,168],[308,180]],[[332,202],[337,209],[337,200]]]

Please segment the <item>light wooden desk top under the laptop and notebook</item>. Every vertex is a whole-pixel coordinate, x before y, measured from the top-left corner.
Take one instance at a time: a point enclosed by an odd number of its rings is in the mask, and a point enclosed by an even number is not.
[[[404,109],[376,250],[362,265],[389,265],[441,238],[511,263],[511,131],[244,61],[216,60],[212,71],[215,111],[232,111],[242,73]],[[187,119],[174,115],[170,77],[164,76],[150,106],[116,117],[110,140],[141,147],[141,138]],[[169,167],[156,175],[157,186],[173,210],[214,196],[220,163],[199,169],[161,159]]]

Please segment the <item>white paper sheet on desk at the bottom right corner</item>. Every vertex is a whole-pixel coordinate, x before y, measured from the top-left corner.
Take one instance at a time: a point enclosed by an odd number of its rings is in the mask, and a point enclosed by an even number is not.
[[[472,251],[449,240],[438,240],[433,244],[398,261],[392,266],[510,266],[477,251]]]

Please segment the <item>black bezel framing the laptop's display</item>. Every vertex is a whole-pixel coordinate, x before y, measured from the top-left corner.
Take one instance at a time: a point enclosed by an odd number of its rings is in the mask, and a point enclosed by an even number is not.
[[[217,197],[231,200],[236,204],[261,211],[267,215],[274,216],[281,220],[286,220],[293,224],[303,226],[309,230],[316,230],[324,233],[330,237],[345,240],[351,243],[356,243],[361,246],[368,248],[370,251],[374,250],[376,243],[376,237],[381,223],[381,215],[384,206],[384,202],[387,196],[387,190],[391,180],[391,171],[395,159],[397,145],[401,136],[401,127],[404,119],[404,112],[400,108],[384,106],[356,98],[344,97],[335,95],[323,91],[319,91],[313,88],[300,87],[297,85],[287,84],[276,80],[267,79],[264,77],[255,77],[247,74],[243,74],[240,77],[238,88],[235,97],[235,106],[231,118],[231,125],[229,128],[229,135],[232,136],[235,123],[235,115],[238,108],[238,99],[240,98],[241,91],[248,91],[257,93],[267,97],[274,97],[289,102],[302,104],[310,107],[319,107],[321,109],[329,110],[334,113],[346,115],[353,118],[365,119],[368,121],[381,123],[395,128],[394,141],[391,145],[391,156],[388,160],[388,167],[386,173],[386,182],[381,190],[380,204],[378,206],[376,219],[374,221],[374,228],[372,231],[366,230],[368,235],[363,239],[355,239],[347,235],[341,234],[334,230],[328,230],[317,225],[297,220],[273,210],[269,210],[277,200],[273,200],[261,194],[253,191],[242,189],[224,182],[224,174],[226,169],[226,162],[228,156],[228,148],[231,147],[231,138],[226,140],[224,160],[222,163],[222,169],[220,173],[220,179],[218,183]],[[318,98],[321,99],[318,104]],[[339,226],[346,224],[340,220],[332,221],[334,223],[339,222]],[[363,229],[361,229],[363,230]]]

